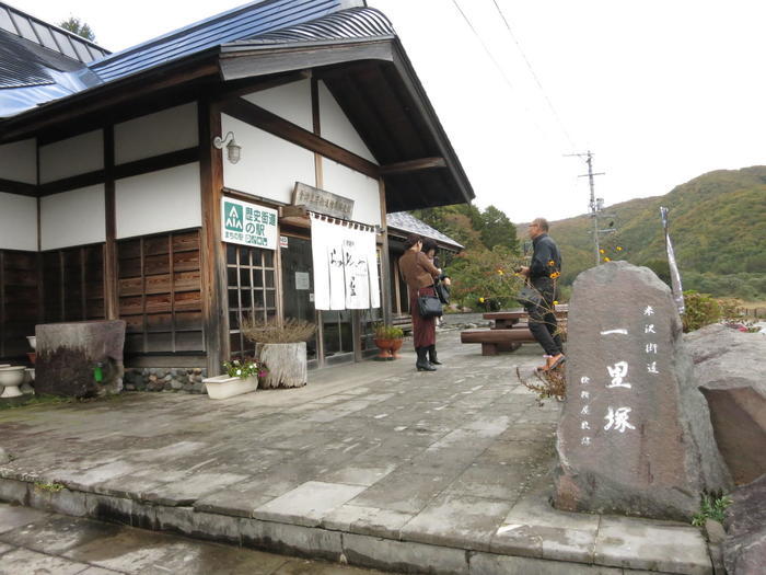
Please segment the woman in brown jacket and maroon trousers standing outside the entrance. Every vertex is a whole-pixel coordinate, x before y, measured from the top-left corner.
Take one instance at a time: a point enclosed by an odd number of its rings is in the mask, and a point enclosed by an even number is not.
[[[409,311],[413,315],[413,340],[418,360],[418,371],[436,371],[428,361],[428,349],[437,343],[436,318],[422,318],[418,311],[418,296],[433,296],[433,280],[441,275],[428,256],[420,250],[422,238],[410,234],[405,242],[407,249],[399,257],[399,272],[409,287]]]

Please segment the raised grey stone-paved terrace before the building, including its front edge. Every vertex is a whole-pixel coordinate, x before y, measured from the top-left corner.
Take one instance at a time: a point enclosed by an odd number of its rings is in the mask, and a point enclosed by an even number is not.
[[[712,573],[689,526],[548,503],[560,404],[440,334],[415,355],[223,401],[135,393],[0,412],[0,499],[401,572]],[[405,344],[406,345],[406,344]]]

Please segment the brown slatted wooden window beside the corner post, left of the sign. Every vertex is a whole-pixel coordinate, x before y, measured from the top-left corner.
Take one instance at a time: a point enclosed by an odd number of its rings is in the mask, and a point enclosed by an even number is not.
[[[128,354],[204,352],[199,231],[117,243]]]

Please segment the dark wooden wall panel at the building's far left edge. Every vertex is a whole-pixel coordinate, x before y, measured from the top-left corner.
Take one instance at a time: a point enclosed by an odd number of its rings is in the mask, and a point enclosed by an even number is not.
[[[37,254],[0,250],[0,357],[31,352],[37,323]]]

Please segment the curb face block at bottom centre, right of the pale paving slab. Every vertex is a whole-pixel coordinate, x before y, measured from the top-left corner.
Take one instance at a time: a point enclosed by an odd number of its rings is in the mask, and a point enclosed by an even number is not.
[[[343,551],[352,565],[394,573],[417,573],[425,565],[428,566],[428,573],[434,575],[468,575],[469,573],[467,553],[462,549],[349,533],[344,536]]]

